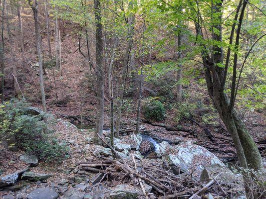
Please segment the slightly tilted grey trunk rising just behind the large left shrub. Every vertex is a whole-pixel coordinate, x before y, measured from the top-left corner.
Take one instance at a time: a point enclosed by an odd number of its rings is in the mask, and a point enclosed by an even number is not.
[[[39,17],[38,17],[38,2],[37,0],[34,0],[34,3],[33,3],[32,0],[28,0],[28,3],[31,6],[31,9],[33,11],[33,17],[34,17],[36,48],[37,48],[38,59],[39,59],[41,102],[42,102],[43,111],[46,112],[46,101],[45,101],[44,83],[43,83],[42,44],[41,44]]]

